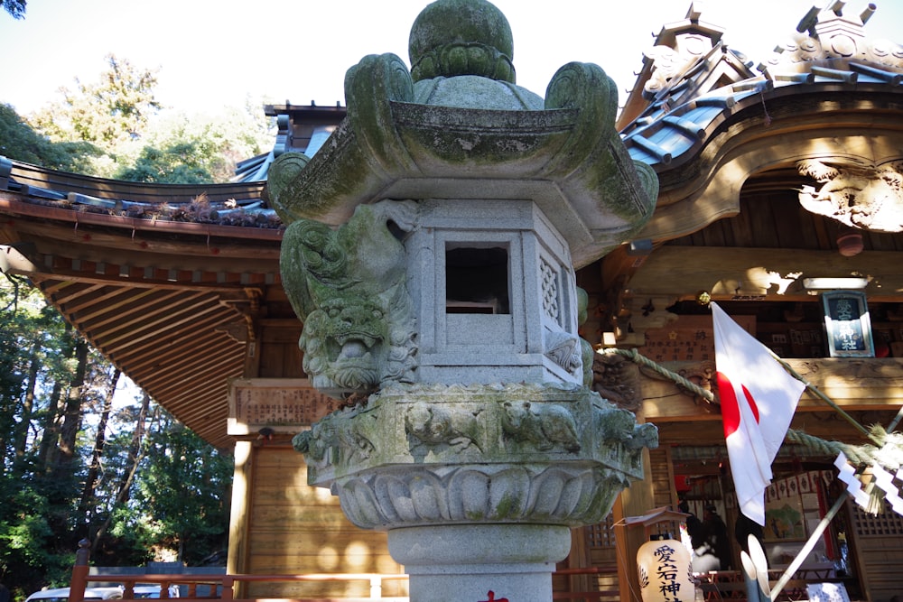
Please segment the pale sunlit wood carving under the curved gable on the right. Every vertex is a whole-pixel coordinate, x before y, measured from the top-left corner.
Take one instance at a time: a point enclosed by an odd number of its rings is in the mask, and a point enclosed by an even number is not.
[[[807,211],[864,230],[903,231],[903,161],[807,159],[796,162],[796,169],[821,183],[818,190],[804,186],[800,191]]]

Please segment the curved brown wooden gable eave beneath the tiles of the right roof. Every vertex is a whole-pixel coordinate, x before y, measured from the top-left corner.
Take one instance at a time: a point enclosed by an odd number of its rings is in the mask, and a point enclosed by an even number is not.
[[[669,164],[636,140],[628,144],[635,160],[653,164],[661,183],[656,211],[638,238],[669,240],[736,215],[743,184],[759,171],[838,154],[881,164],[903,153],[899,83],[788,82],[731,98],[732,107],[695,109],[706,123],[700,125],[704,135],[692,142],[663,120],[652,140],[685,146]]]

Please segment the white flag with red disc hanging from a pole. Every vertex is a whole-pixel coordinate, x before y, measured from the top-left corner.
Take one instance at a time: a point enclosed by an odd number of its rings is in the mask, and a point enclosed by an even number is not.
[[[765,524],[771,462],[790,428],[805,384],[767,347],[711,304],[721,419],[740,511]]]

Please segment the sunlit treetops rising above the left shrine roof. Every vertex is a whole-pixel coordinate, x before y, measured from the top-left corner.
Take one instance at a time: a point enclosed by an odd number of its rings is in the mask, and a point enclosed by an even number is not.
[[[0,154],[118,180],[200,184],[230,181],[237,162],[273,144],[272,120],[251,103],[163,119],[154,72],[114,55],[98,82],[76,84],[27,123],[12,107],[0,111]]]

